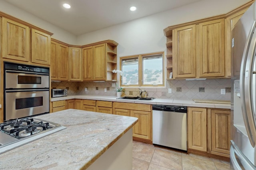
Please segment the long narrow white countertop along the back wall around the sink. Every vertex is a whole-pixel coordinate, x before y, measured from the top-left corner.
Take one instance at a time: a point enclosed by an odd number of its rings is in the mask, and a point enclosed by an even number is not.
[[[88,100],[103,100],[111,102],[127,102],[127,103],[139,103],[139,104],[163,104],[163,105],[173,105],[173,106],[188,106],[188,107],[208,107],[208,108],[218,108],[218,109],[230,109],[230,103],[209,103],[207,102],[194,102],[194,100],[184,100],[184,99],[163,99],[156,98],[152,101],[141,101],[141,100],[122,100],[117,99],[116,96],[92,96],[92,95],[73,95],[66,97],[51,98],[51,102],[68,100],[68,99],[88,99]]]

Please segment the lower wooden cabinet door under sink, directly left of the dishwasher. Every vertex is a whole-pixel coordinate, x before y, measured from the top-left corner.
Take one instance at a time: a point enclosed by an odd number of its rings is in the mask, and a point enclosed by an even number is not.
[[[131,110],[130,116],[138,118],[132,127],[133,136],[151,140],[151,112]]]

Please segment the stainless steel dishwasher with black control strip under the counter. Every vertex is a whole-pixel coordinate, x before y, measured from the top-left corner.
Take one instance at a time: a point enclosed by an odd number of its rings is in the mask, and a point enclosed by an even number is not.
[[[187,152],[187,107],[153,105],[153,145]]]

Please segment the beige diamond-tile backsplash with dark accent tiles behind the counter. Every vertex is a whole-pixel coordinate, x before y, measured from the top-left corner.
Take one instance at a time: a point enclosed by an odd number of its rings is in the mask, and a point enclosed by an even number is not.
[[[115,82],[52,82],[52,88],[68,87],[68,95],[116,96],[115,87],[112,87],[112,83]],[[168,93],[168,88],[172,88],[172,93]],[[166,80],[166,88],[140,89],[146,90],[148,96],[154,98],[230,100],[231,80]],[[226,94],[220,94],[220,89],[226,89]],[[125,88],[123,96],[139,96],[139,92],[138,88]]]

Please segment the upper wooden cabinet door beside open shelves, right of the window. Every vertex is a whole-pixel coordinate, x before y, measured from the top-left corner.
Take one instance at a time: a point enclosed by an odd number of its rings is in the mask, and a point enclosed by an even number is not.
[[[174,29],[173,35],[174,78],[196,77],[196,26]]]

